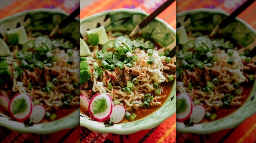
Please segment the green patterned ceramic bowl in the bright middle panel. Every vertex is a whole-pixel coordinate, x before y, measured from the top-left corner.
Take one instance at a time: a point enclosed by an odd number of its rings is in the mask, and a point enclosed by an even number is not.
[[[133,9],[115,9],[100,12],[82,19],[80,22],[80,32],[82,36],[85,36],[85,32],[88,29],[94,29],[99,26],[105,26],[106,31],[132,31],[134,27],[147,15],[148,14],[146,13]],[[154,21],[148,24],[142,29],[141,32],[142,34],[150,34],[152,39],[165,47],[176,45],[176,31],[159,18],[156,18]],[[156,127],[165,119],[171,117],[176,111],[175,88],[176,82],[174,83],[167,101],[157,111],[143,119],[105,127],[105,125],[101,122],[80,116],[80,125],[96,132],[115,134],[131,134],[140,130]]]

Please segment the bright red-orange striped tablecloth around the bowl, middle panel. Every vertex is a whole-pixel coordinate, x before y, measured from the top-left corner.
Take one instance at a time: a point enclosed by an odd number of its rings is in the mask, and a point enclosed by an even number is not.
[[[95,14],[97,12],[116,9],[116,8],[132,8],[143,10],[151,13],[159,7],[166,0],[97,0],[86,8],[81,9],[80,19]],[[159,18],[176,28],[176,2],[169,6],[162,12]],[[130,135],[116,135],[116,134],[100,134],[90,131],[84,127],[80,130],[81,142],[163,142],[174,143],[176,138],[176,115],[166,119],[158,127],[143,130]]]

